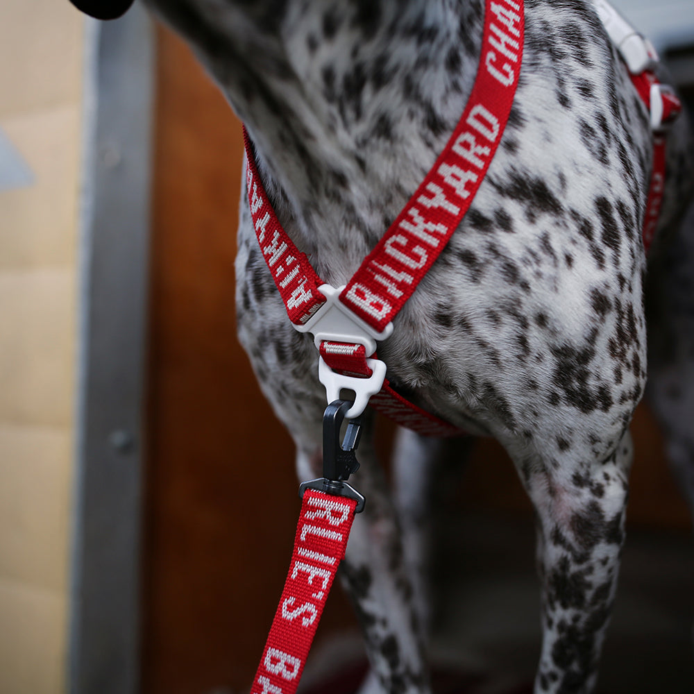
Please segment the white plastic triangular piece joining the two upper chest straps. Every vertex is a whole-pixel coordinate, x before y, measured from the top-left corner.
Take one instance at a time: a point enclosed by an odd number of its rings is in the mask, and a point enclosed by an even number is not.
[[[319,291],[325,296],[325,303],[303,325],[294,323],[294,328],[299,332],[311,332],[318,348],[324,340],[349,342],[364,345],[366,356],[370,357],[376,350],[376,340],[391,335],[393,323],[388,323],[381,332],[371,328],[339,300],[343,289],[344,285],[337,288],[321,285]]]

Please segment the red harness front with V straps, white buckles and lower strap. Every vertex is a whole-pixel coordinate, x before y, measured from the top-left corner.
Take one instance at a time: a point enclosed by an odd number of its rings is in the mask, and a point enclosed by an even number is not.
[[[371,398],[376,409],[420,433],[464,433],[409,403],[387,382],[382,388],[384,369],[374,373],[372,368],[377,359],[366,362],[369,375],[364,366],[347,366],[340,373],[336,349],[353,365],[373,355],[376,341],[390,335],[393,317],[470,207],[511,111],[523,56],[523,20],[522,0],[486,0],[480,67],[463,115],[428,176],[346,287],[325,285],[280,225],[244,130],[248,201],[260,248],[294,328],[312,332],[319,348],[327,343],[321,349],[321,381],[328,402],[341,388],[357,393],[349,418],[359,416]],[[357,354],[359,346],[364,356]],[[355,371],[362,373],[348,375]]]

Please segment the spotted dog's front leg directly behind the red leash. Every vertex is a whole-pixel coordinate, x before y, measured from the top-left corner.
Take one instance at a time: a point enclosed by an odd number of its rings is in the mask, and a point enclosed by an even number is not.
[[[425,643],[406,569],[396,510],[382,468],[375,457],[369,428],[357,457],[361,468],[350,483],[366,497],[350,534],[339,575],[362,627],[371,674],[362,694],[426,694],[430,691]],[[306,477],[301,453],[298,472]]]

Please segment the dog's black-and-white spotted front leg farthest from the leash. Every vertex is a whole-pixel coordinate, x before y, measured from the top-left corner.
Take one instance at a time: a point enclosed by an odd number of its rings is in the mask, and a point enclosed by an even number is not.
[[[537,514],[543,643],[536,694],[589,694],[616,591],[624,541],[629,432],[604,460],[518,467]]]

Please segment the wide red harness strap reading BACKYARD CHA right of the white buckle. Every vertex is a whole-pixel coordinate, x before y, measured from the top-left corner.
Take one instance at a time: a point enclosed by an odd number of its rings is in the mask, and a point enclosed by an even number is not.
[[[487,0],[477,78],[446,149],[340,294],[383,330],[470,207],[509,119],[523,58],[523,0]]]

